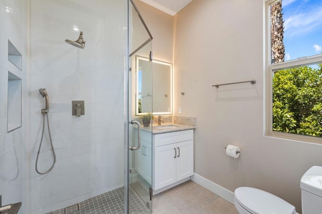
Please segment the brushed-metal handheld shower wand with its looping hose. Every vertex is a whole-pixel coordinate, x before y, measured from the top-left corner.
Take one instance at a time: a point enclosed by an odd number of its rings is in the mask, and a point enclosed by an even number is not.
[[[48,94],[47,94],[47,90],[46,88],[40,88],[39,89],[39,93],[42,95],[42,97],[45,97],[46,99],[46,109],[42,109],[41,110],[41,114],[43,115],[43,123],[42,123],[42,133],[41,133],[41,139],[40,139],[40,144],[39,144],[39,148],[38,148],[38,152],[37,152],[37,157],[36,157],[36,164],[35,164],[35,168],[36,168],[36,172],[38,174],[46,174],[47,172],[49,172],[55,165],[56,163],[56,155],[55,155],[55,150],[54,147],[52,145],[52,139],[51,139],[51,133],[50,133],[50,127],[49,127],[49,120],[48,120],[48,112],[49,112],[49,98],[48,98]],[[39,153],[40,153],[40,149],[41,149],[41,144],[42,144],[42,140],[44,137],[44,131],[45,131],[45,117],[47,116],[47,126],[48,126],[48,133],[49,133],[49,140],[50,140],[50,145],[51,145],[51,149],[52,149],[52,156],[54,158],[54,161],[51,165],[51,167],[45,171],[45,172],[40,172],[38,170],[38,158],[39,158]]]

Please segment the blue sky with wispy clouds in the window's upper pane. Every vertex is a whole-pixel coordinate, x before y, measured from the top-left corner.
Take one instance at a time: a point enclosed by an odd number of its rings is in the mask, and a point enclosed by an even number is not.
[[[282,0],[285,61],[322,52],[322,0]]]

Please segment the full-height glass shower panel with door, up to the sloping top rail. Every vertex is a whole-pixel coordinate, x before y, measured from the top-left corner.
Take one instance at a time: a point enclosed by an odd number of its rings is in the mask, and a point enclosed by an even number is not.
[[[129,4],[129,213],[152,211],[152,36]],[[143,119],[147,124],[143,126]],[[139,198],[139,199],[136,199]]]

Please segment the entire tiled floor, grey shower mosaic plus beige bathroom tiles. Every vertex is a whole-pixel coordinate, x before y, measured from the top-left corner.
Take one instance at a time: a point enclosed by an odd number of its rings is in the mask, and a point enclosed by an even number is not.
[[[122,188],[98,195],[73,205],[73,208],[60,209],[49,214],[94,214],[94,213],[123,213]],[[138,195],[130,189],[130,214],[148,214]],[[237,214],[234,205],[215,195],[193,181],[187,181],[167,191],[153,196],[153,214]],[[48,213],[47,213],[48,214]]]

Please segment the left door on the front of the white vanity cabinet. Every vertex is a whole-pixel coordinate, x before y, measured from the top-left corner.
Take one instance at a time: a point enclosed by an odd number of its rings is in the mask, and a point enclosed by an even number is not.
[[[159,189],[176,182],[176,144],[154,149],[154,188]]]

